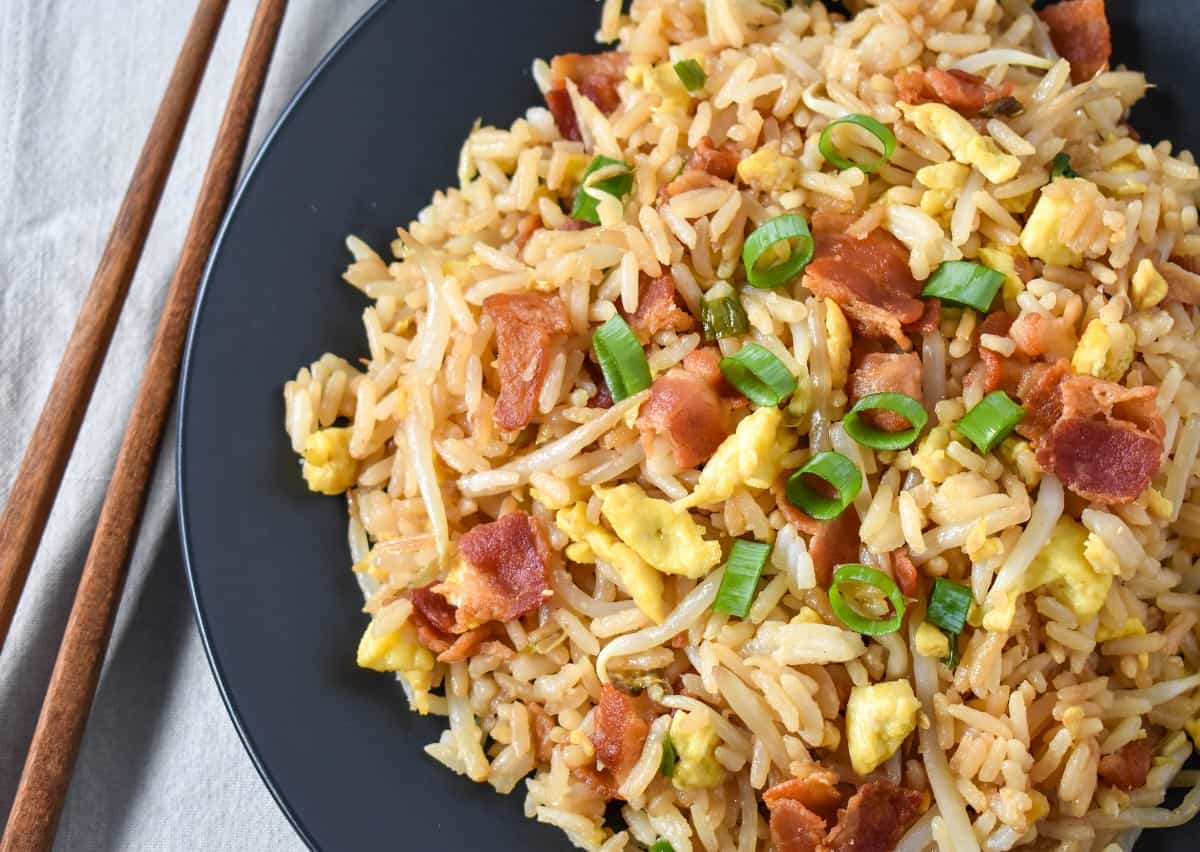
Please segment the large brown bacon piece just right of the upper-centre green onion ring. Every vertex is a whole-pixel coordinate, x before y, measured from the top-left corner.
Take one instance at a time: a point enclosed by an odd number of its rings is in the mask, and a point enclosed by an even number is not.
[[[890,338],[905,352],[912,342],[905,325],[917,323],[925,305],[917,298],[920,282],[908,269],[908,250],[882,228],[857,240],[846,234],[852,216],[812,217],[816,250],[804,271],[804,286],[841,306],[854,332]]]

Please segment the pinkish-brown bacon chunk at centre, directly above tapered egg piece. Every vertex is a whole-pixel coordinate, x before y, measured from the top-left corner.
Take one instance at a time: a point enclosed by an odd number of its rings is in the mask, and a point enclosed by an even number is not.
[[[697,349],[684,359],[683,367],[656,378],[637,418],[642,440],[649,444],[655,436],[665,437],[676,464],[684,470],[708,461],[732,432],[731,409],[744,402],[744,397],[731,401],[721,396],[726,385],[714,353],[715,348]],[[719,353],[715,358],[720,360]]]

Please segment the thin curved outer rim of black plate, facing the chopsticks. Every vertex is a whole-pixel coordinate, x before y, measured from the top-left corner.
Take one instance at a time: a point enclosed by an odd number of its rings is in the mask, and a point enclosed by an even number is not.
[[[192,317],[188,322],[187,328],[187,340],[184,347],[184,361],[179,374],[179,400],[175,407],[176,428],[175,428],[175,450],[174,450],[174,468],[175,468],[175,518],[179,523],[179,538],[180,538],[180,550],[184,557],[184,574],[187,578],[187,594],[192,604],[192,616],[196,620],[197,630],[200,635],[200,644],[204,647],[204,656],[208,660],[209,670],[212,673],[212,679],[216,683],[217,692],[221,696],[221,703],[224,706],[226,713],[229,720],[233,722],[234,730],[238,733],[238,739],[241,742],[242,749],[246,756],[250,757],[251,764],[258,773],[259,779],[266,786],[268,792],[270,792],[271,798],[275,800],[276,806],[282,811],[284,818],[292,826],[293,830],[300,838],[305,846],[313,852],[320,852],[320,846],[317,844],[308,827],[300,818],[299,814],[288,802],[287,797],[280,788],[278,781],[274,773],[263,762],[262,756],[258,752],[258,746],[254,742],[253,736],[246,728],[245,721],[241,718],[241,712],[238,707],[238,700],[234,697],[226,683],[224,668],[221,665],[221,660],[217,656],[216,649],[212,643],[209,630],[208,614],[205,613],[204,604],[200,601],[199,590],[197,588],[197,574],[196,564],[192,554],[192,540],[191,530],[187,522],[187,509],[188,502],[186,496],[186,455],[187,455],[187,412],[190,406],[190,394],[188,389],[191,386],[192,377],[192,354],[196,347],[197,329],[199,328],[200,314],[203,312],[204,301],[208,296],[209,284],[212,281],[212,270],[216,265],[216,259],[224,248],[224,241],[228,235],[230,224],[234,216],[238,214],[242,199],[248,191],[254,178],[258,175],[258,169],[263,161],[270,155],[271,150],[275,148],[275,143],[287,125],[290,122],[296,108],[307,98],[313,84],[342,56],[344,48],[353,42],[364,29],[366,29],[371,22],[378,16],[378,13],[389,4],[391,0],[374,0],[370,8],[367,8],[350,28],[342,34],[341,37],[334,43],[329,50],[320,58],[320,61],[313,67],[313,70],[305,77],[304,82],[296,89],[296,91],[288,98],[283,109],[280,112],[278,116],[275,119],[263,142],[258,146],[251,157],[246,172],[242,175],[238,188],[234,192],[233,200],[229,203],[228,210],[226,210],[224,217],[221,221],[221,228],[217,232],[216,241],[212,245],[212,251],[204,265],[204,275],[200,280],[200,287],[196,296],[196,304],[192,308]]]

